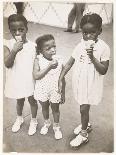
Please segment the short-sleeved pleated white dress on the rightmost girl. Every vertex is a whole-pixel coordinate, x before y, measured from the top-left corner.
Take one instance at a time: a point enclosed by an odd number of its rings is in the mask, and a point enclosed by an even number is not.
[[[101,39],[94,45],[93,55],[99,61],[109,60],[109,46]],[[72,53],[75,59],[72,88],[75,100],[80,104],[98,105],[102,99],[103,78],[86,54],[85,46],[81,41]]]

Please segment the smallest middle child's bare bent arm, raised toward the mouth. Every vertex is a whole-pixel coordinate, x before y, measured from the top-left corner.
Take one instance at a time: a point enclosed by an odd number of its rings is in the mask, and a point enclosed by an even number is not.
[[[51,61],[49,65],[45,68],[40,70],[39,66],[39,59],[35,58],[34,67],[33,67],[33,77],[35,80],[42,79],[51,69],[55,69],[58,63]]]

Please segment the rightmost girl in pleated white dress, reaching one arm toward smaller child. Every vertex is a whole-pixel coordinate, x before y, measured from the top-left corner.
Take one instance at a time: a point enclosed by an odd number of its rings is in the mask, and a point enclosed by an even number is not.
[[[74,129],[77,135],[70,142],[72,147],[78,147],[88,142],[89,110],[91,105],[98,105],[102,99],[103,78],[109,66],[109,46],[98,36],[102,32],[102,19],[97,14],[83,16],[80,27],[82,40],[75,47],[71,58],[64,66],[59,79],[59,91],[62,78],[74,64],[72,87],[75,100],[80,104],[81,125]]]

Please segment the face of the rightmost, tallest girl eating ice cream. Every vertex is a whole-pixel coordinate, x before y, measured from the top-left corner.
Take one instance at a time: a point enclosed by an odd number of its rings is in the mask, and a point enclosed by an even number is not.
[[[87,23],[82,27],[82,35],[85,41],[93,40],[96,41],[98,35],[101,33],[101,29],[97,29],[95,25],[91,23]]]

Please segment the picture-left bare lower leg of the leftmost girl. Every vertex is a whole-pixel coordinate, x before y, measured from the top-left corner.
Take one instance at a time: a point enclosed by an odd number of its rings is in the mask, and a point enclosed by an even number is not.
[[[24,106],[25,98],[17,99],[17,115],[22,116],[23,106]]]

